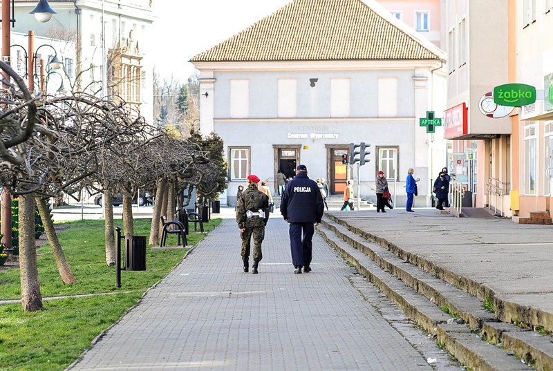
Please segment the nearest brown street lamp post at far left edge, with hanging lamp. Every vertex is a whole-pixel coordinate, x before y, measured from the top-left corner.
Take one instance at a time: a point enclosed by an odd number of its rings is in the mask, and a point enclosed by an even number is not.
[[[40,7],[39,7],[40,6]],[[13,0],[3,0],[2,1],[2,61],[10,64],[10,23],[12,26],[15,26],[15,17],[10,17],[10,8],[14,8]],[[50,8],[47,0],[40,0],[37,4],[37,7],[32,10],[32,14],[35,15],[35,18],[40,22],[47,22],[52,17],[52,14],[55,11]],[[48,16],[49,14],[49,16]],[[3,89],[6,90],[10,84],[10,75],[5,71],[2,71],[4,84]],[[4,244],[6,249],[11,249],[12,247],[12,195],[6,189],[2,188],[1,192],[1,204],[0,204],[0,219],[3,221],[0,227],[0,233],[3,234],[1,242]]]

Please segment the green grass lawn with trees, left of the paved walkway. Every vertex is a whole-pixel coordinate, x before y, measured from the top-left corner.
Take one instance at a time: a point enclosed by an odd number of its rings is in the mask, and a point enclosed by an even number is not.
[[[209,232],[221,222],[204,225]],[[151,220],[135,220],[135,235],[148,236]],[[107,267],[104,252],[104,222],[82,220],[63,223],[69,227],[59,234],[77,285],[63,285],[50,247],[37,250],[41,294],[92,296],[44,301],[46,310],[23,312],[21,304],[0,305],[0,370],[64,370],[91,344],[91,341],[142,294],[182,260],[188,249],[147,249],[147,270],[122,271],[120,289],[115,287],[115,267]],[[116,221],[116,225],[122,225]],[[189,245],[203,234],[187,236]],[[147,237],[148,239],[148,237]],[[176,236],[167,245],[176,245]],[[102,294],[111,293],[111,294]],[[20,298],[19,269],[0,271],[0,300]]]

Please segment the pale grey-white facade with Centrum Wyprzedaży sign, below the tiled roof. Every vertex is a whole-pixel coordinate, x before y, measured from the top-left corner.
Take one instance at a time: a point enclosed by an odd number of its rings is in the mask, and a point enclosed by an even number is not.
[[[341,195],[346,167],[339,156],[350,143],[360,142],[371,144],[370,161],[360,167],[359,179],[357,165],[349,176],[360,181],[362,197],[375,199],[377,169],[386,169],[388,181],[397,181],[391,186],[396,202],[404,203],[404,181],[413,168],[420,178],[415,206],[430,204],[432,174],[443,166],[433,159],[445,158],[445,142],[441,127],[427,134],[420,118],[427,111],[440,117],[445,109],[439,62],[195,65],[202,95],[200,129],[203,134],[215,131],[225,141],[229,204],[249,173],[274,189],[283,164],[306,164],[310,178],[325,178],[330,193]],[[290,169],[283,170],[291,175]]]

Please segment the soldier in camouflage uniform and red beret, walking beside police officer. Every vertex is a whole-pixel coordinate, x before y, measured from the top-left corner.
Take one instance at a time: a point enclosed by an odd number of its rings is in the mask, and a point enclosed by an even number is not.
[[[249,268],[250,239],[252,235],[254,237],[253,274],[257,273],[257,267],[263,258],[261,242],[265,238],[265,225],[269,220],[269,198],[257,188],[259,181],[256,175],[249,175],[246,181],[246,189],[236,200],[236,222],[242,238],[244,272],[247,272]]]

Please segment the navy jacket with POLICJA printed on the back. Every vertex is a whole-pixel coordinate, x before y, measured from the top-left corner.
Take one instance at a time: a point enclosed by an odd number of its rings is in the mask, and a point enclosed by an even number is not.
[[[281,198],[281,214],[290,223],[321,222],[323,196],[307,173],[299,172],[288,184]]]

